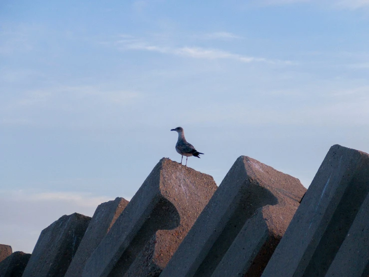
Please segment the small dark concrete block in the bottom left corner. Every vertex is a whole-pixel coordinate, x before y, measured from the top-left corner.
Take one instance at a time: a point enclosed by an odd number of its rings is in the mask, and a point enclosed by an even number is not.
[[[1,277],[21,277],[31,254],[15,251],[0,262]]]

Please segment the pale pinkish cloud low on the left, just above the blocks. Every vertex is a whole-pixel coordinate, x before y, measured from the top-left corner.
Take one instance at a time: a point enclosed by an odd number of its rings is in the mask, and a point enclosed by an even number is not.
[[[0,214],[1,243],[30,253],[41,230],[62,215],[92,216],[99,204],[114,198],[74,191],[0,190],[0,209],[7,211]]]

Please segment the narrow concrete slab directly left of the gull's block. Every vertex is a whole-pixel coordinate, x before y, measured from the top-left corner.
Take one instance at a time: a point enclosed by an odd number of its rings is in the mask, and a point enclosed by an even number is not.
[[[128,201],[126,199],[116,197],[115,200],[101,203],[97,206],[72,262],[65,273],[65,277],[82,275],[86,260],[91,256],[93,250],[99,245],[127,204]]]

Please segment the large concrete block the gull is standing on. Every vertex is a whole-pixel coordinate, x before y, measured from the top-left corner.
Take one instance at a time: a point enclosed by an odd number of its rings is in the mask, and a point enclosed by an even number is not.
[[[157,276],[216,189],[212,176],[162,158],[87,260],[82,276]]]

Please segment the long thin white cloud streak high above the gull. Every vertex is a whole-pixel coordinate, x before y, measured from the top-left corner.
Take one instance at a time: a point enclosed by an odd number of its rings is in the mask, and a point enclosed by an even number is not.
[[[233,59],[241,62],[293,64],[293,62],[289,60],[278,60],[264,57],[247,56],[243,54],[232,53],[229,51],[214,48],[203,48],[196,46],[172,47],[166,45],[155,45],[147,43],[146,41],[137,38],[119,39],[118,41],[114,42],[114,44],[119,50],[143,50],[202,59]]]

